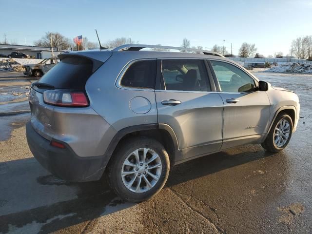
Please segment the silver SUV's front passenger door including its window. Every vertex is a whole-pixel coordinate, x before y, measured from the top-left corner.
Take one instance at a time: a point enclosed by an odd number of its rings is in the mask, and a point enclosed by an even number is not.
[[[219,95],[224,102],[223,145],[257,143],[266,133],[270,100],[257,89],[257,81],[243,69],[227,61],[210,60]]]

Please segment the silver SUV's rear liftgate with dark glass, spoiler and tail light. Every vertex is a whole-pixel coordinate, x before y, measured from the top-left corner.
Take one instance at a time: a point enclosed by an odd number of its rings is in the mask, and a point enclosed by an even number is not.
[[[31,124],[46,139],[51,140],[55,134],[55,107],[81,108],[89,105],[85,84],[111,55],[110,52],[103,53],[100,61],[84,54],[92,55],[90,52],[59,55],[61,61],[32,84],[29,94]]]

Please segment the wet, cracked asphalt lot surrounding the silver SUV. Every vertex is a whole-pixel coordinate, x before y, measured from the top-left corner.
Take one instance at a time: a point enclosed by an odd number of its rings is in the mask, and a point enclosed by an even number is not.
[[[141,203],[121,201],[105,177],[69,183],[50,175],[27,147],[29,113],[0,116],[0,234],[312,233],[312,75],[254,74],[300,98],[288,147],[272,154],[246,145],[179,164]]]

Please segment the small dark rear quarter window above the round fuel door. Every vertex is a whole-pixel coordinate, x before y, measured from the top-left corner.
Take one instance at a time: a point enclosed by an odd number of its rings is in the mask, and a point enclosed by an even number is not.
[[[156,78],[156,59],[133,63],[123,75],[122,86],[154,89]]]

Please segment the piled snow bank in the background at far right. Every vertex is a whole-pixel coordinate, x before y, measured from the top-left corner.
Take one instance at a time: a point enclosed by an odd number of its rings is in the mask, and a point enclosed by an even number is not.
[[[286,62],[280,64],[279,66],[272,67],[266,72],[287,72],[287,73],[303,73],[312,74],[312,64],[311,63],[297,63],[297,62]]]

